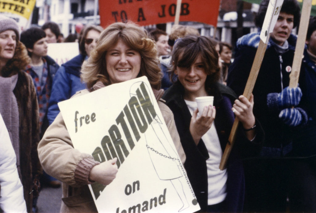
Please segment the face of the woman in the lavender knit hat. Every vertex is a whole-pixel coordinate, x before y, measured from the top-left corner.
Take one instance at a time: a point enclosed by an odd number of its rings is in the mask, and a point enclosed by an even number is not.
[[[0,60],[7,62],[13,58],[16,47],[16,34],[13,30],[0,33]]]

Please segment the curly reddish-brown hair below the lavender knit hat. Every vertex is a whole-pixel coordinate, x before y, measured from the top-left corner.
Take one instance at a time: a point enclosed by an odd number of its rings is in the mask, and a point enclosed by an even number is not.
[[[21,41],[16,42],[13,58],[10,59],[0,71],[2,77],[10,77],[19,71],[23,71],[31,62],[27,49]]]

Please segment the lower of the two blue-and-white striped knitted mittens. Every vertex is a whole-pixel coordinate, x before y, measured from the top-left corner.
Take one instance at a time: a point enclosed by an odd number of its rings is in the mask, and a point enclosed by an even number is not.
[[[279,118],[290,127],[296,127],[300,124],[305,125],[307,123],[307,114],[299,107],[282,110],[279,114]]]

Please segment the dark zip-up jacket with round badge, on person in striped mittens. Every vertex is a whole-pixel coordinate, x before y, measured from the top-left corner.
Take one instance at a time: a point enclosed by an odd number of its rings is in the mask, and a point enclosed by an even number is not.
[[[235,59],[229,67],[227,85],[241,95],[245,89],[247,79],[257,51],[259,33],[247,34],[237,41]],[[254,41],[254,42],[253,42]],[[297,128],[289,127],[279,119],[280,110],[271,110],[267,105],[269,93],[279,93],[289,86],[296,45],[296,37],[290,35],[289,49],[282,54],[276,52],[270,39],[268,47],[253,88],[253,114],[261,123],[265,132],[265,141],[261,156],[280,157],[288,154],[292,149],[293,137]],[[300,87],[303,86],[300,81]],[[304,92],[303,92],[304,93]],[[299,105],[301,108],[304,106]]]

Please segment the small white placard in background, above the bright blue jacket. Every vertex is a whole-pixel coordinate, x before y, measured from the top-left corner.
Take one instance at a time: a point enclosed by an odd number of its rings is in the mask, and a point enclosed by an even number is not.
[[[79,44],[78,42],[49,43],[47,55],[52,57],[60,66],[79,55]]]

